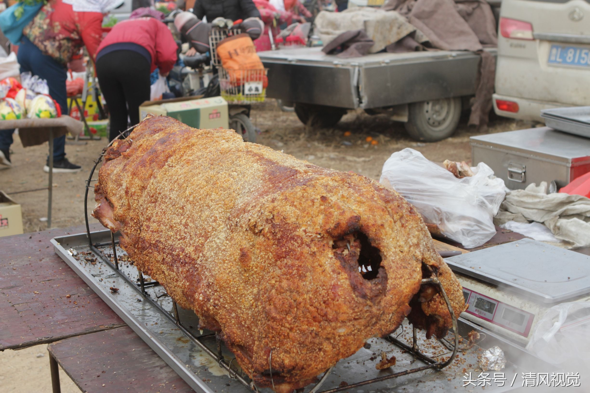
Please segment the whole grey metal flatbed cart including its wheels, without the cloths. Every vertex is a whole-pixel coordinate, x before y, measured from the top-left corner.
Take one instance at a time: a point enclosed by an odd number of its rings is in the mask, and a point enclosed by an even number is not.
[[[496,48],[486,48],[494,57]],[[453,134],[476,92],[480,54],[469,51],[375,53],[339,58],[320,47],[258,53],[268,68],[267,97],[294,106],[304,124],[332,127],[348,109],[388,114],[412,137]]]

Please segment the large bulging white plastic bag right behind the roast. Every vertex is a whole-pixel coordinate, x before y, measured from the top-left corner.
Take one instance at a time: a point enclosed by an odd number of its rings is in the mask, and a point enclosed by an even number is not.
[[[393,153],[381,174],[389,184],[446,237],[466,248],[486,243],[496,234],[493,217],[504,200],[504,181],[484,163],[473,176],[457,179],[414,149]]]

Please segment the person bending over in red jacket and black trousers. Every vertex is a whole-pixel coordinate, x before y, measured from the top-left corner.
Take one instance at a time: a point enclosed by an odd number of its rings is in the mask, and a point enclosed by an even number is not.
[[[110,140],[139,123],[139,106],[150,99],[150,74],[168,76],[178,46],[168,26],[144,15],[114,25],[96,56],[100,90],[110,112]]]

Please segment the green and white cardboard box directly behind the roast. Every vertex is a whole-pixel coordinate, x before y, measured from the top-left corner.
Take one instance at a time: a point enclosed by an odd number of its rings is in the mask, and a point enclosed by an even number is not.
[[[146,101],[139,107],[139,120],[143,120],[148,113],[174,117],[187,126],[199,129],[229,128],[227,101],[222,97]]]

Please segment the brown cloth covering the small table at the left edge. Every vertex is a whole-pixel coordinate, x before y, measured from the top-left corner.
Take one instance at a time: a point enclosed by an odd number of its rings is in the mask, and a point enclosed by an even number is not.
[[[63,115],[54,119],[21,119],[21,120],[0,120],[0,130],[18,128],[18,136],[21,138],[22,146],[41,145],[49,140],[49,129],[53,129],[53,137],[77,135],[84,129],[84,123]]]

